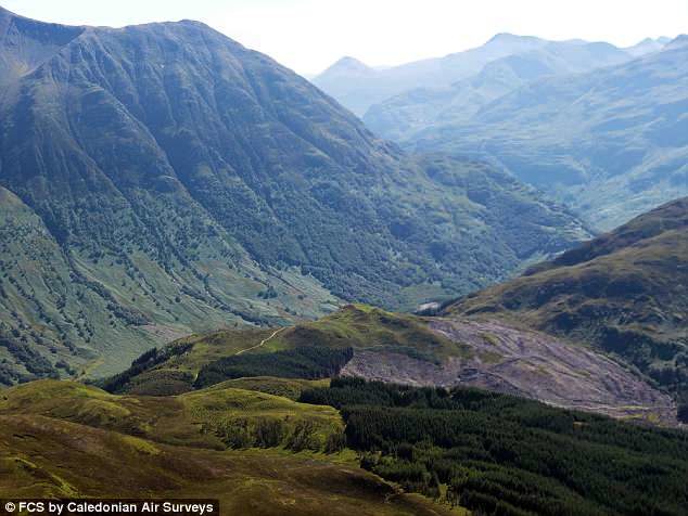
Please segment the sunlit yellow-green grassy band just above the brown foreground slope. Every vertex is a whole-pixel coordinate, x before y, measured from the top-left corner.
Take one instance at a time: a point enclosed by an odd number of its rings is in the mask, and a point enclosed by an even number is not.
[[[249,437],[254,437],[260,424],[278,422],[282,433],[278,446],[288,446],[296,427],[307,422],[310,434],[307,448],[314,451],[322,450],[328,437],[343,429],[334,409],[232,388],[228,384],[231,383],[176,397],[150,398],[110,395],[76,382],[38,380],[4,390],[0,414],[56,417],[156,442],[218,450],[237,446],[227,441],[224,430],[239,424],[245,424]]]

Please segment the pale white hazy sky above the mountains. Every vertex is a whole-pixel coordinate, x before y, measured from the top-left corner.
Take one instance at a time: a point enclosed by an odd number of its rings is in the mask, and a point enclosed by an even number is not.
[[[75,25],[192,18],[302,74],[343,55],[393,65],[482,44],[496,33],[629,46],[688,31],[688,0],[0,0]]]

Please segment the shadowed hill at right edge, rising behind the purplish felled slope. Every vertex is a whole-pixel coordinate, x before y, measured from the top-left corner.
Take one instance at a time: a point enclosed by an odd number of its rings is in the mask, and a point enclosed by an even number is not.
[[[588,343],[659,385],[688,391],[688,198],[445,311],[514,320]]]

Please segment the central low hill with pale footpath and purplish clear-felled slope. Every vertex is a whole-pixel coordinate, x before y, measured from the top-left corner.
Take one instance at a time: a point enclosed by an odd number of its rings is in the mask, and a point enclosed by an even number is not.
[[[347,306],[277,332],[222,331],[180,339],[141,357],[103,386],[165,396],[231,387],[241,377],[333,375],[473,386],[620,418],[676,424],[671,397],[598,352],[514,324],[417,318],[366,306]]]

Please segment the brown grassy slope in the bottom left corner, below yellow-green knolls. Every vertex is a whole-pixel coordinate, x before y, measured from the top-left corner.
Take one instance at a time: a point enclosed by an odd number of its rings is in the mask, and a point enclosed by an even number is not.
[[[361,469],[263,450],[170,447],[39,415],[0,416],[1,498],[214,498],[222,514],[444,515]]]

